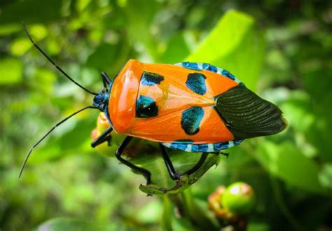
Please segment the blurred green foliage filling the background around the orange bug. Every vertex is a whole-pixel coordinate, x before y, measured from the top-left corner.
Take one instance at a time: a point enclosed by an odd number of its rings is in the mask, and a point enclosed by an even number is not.
[[[207,197],[235,181],[256,193],[249,230],[331,230],[331,15],[323,0],[1,1],[0,230],[215,230]],[[18,180],[34,141],[92,102],[32,48],[21,21],[89,89],[130,58],[211,62],[277,104],[289,127],[230,149],[181,195],[146,197],[143,177],[90,148],[98,113],[86,111],[36,148]],[[165,172],[153,145],[147,159]]]

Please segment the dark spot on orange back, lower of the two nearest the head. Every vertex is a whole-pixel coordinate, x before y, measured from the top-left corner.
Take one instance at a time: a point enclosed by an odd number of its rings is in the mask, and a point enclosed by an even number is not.
[[[149,118],[158,116],[158,106],[150,97],[140,95],[136,102],[136,117]]]

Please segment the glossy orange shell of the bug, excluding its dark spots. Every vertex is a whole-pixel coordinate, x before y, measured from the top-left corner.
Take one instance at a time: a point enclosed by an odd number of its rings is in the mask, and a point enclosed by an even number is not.
[[[141,85],[145,72],[164,77],[160,84]],[[186,86],[187,76],[199,72],[206,76],[207,92],[197,94]],[[211,144],[231,141],[233,134],[214,110],[214,97],[238,83],[212,71],[195,71],[170,64],[145,64],[130,59],[113,82],[109,99],[109,117],[113,130],[151,141],[169,143],[176,140],[193,141],[193,144]],[[139,95],[150,97],[158,106],[158,116],[137,118],[136,102]],[[197,134],[186,134],[181,128],[181,113],[193,106],[204,110]]]

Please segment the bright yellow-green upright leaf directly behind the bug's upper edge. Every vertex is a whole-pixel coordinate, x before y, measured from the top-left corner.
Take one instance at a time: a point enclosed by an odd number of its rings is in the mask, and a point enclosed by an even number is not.
[[[208,62],[226,69],[254,90],[261,71],[265,38],[254,29],[254,19],[228,11],[186,60]]]

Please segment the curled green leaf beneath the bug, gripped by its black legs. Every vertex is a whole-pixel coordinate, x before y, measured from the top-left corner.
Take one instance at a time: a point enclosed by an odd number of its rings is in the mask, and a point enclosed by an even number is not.
[[[122,142],[123,136],[111,133],[111,137],[111,146],[102,144],[102,147],[97,149],[97,151],[103,153],[103,155],[114,157],[114,153],[116,152],[118,145]],[[172,151],[168,148],[167,151],[174,165],[174,169],[180,174],[195,166],[201,157],[200,153]],[[204,164],[200,167],[200,169],[198,169],[197,172],[191,174],[190,176],[184,175],[179,181],[174,181],[170,178],[165,162],[162,158],[162,154],[160,153],[158,144],[156,143],[142,139],[134,139],[134,141],[132,141],[130,145],[125,148],[123,157],[127,158],[127,160],[132,164],[151,172],[151,184],[147,186],[141,184],[141,186],[139,186],[141,191],[151,195],[170,195],[181,193],[183,190],[198,181],[209,168],[219,164],[221,155],[208,155]],[[141,176],[141,179],[142,182],[144,182],[143,176]]]

